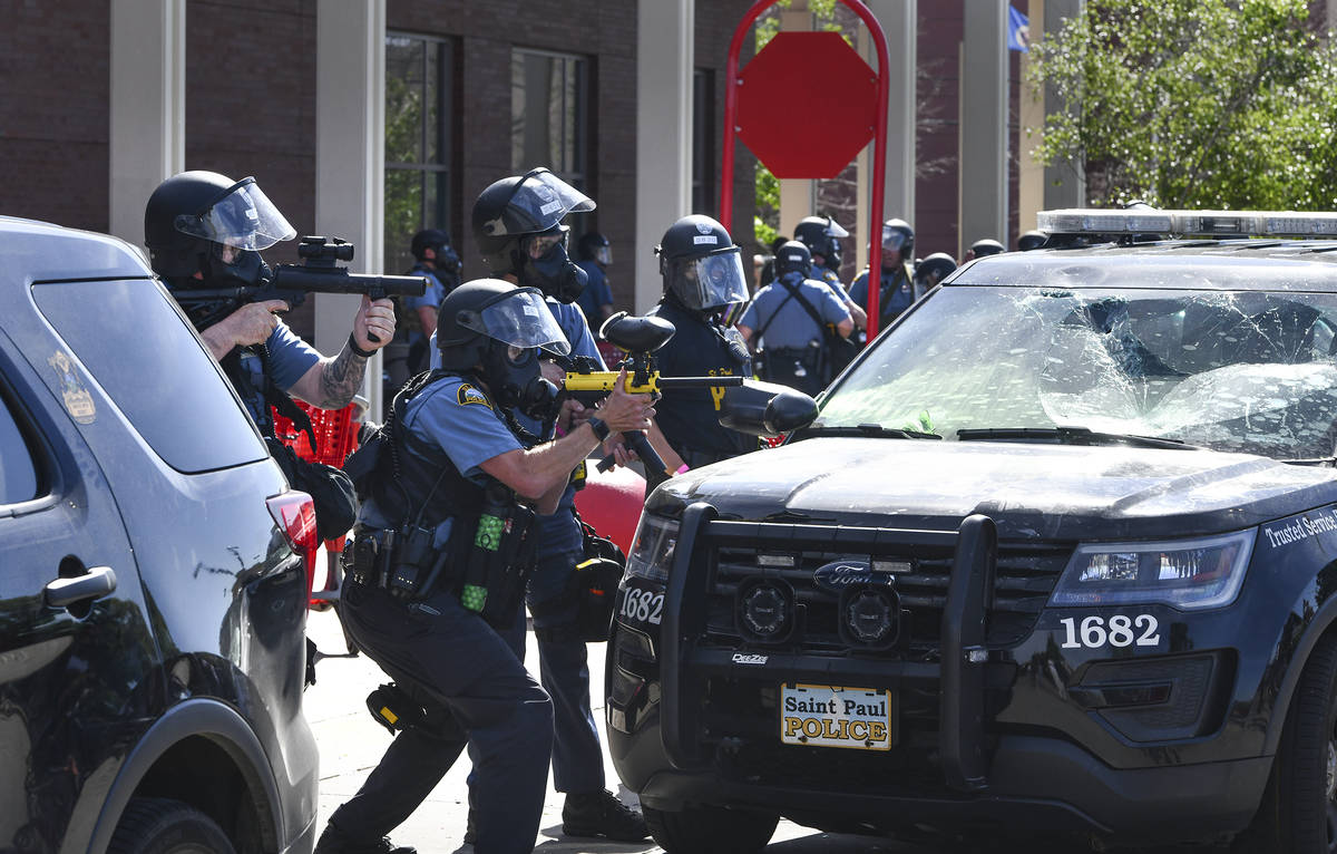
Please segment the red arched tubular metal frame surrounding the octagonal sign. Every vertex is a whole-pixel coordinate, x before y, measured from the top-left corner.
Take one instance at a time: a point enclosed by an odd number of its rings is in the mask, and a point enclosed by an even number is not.
[[[729,63],[725,67],[725,78],[729,86],[725,88],[725,153],[721,165],[719,189],[719,221],[725,228],[730,228],[734,214],[734,137],[738,135],[735,119],[738,115],[738,56],[742,54],[743,39],[751,25],[761,17],[761,13],[775,5],[778,0],[758,0],[747,13],[743,15],[738,29],[734,31],[733,41],[729,43]],[[873,129],[873,198],[869,209],[870,222],[868,229],[868,340],[877,336],[877,303],[881,296],[882,276],[882,193],[886,173],[886,95],[890,83],[886,79],[890,66],[890,54],[886,51],[886,35],[882,33],[881,24],[861,0],[840,0],[862,19],[873,36],[873,46],[877,48],[877,126]]]

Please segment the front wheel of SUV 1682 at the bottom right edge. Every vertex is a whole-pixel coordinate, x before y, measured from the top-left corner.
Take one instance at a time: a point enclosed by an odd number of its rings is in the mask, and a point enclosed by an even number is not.
[[[1254,823],[1235,851],[1337,851],[1337,634],[1305,663]]]

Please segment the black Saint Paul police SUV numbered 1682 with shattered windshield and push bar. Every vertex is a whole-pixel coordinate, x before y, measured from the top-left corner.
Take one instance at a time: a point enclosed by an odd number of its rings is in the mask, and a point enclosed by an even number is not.
[[[1337,242],[1278,238],[1337,214],[1042,228],[648,499],[607,715],[668,851],[1337,850]]]

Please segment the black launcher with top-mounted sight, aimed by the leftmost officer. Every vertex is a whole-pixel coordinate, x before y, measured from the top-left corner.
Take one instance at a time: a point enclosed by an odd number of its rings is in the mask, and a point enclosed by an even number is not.
[[[206,320],[197,320],[197,325],[206,327],[246,303],[283,300],[289,309],[294,309],[306,300],[308,293],[365,293],[373,300],[384,300],[388,296],[422,296],[427,290],[427,278],[422,276],[349,273],[346,266],[336,262],[353,260],[353,244],[338,237],[303,237],[297,245],[297,254],[305,258],[303,264],[279,264],[274,268],[273,277],[258,285],[176,289],[172,296],[193,320],[193,308],[219,304],[218,311],[210,312]],[[368,337],[377,344],[381,341],[376,335]]]

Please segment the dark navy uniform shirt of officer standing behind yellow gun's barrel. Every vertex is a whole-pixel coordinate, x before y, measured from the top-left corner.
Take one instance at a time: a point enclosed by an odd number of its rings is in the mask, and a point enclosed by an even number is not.
[[[722,339],[737,329],[717,331],[695,313],[664,300],[650,311],[663,317],[677,332],[668,343],[655,351],[655,360],[663,376],[738,376],[746,375],[749,359],[739,360]],[[746,353],[746,347],[741,348]],[[723,386],[706,388],[674,388],[666,391],[655,407],[655,423],[678,454],[706,451],[733,456],[757,450],[757,439],[719,426],[719,404],[725,399]]]

